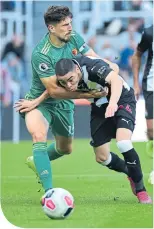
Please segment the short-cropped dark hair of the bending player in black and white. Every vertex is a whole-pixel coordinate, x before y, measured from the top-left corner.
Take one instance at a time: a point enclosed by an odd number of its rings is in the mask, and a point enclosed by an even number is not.
[[[74,67],[75,64],[71,59],[63,58],[56,63],[55,73],[57,76],[64,76],[73,71]]]

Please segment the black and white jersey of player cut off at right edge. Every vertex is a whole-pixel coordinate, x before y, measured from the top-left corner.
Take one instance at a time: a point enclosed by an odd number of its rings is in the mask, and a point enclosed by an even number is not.
[[[148,51],[142,87],[145,91],[153,91],[153,25],[144,29],[137,50],[142,53]]]

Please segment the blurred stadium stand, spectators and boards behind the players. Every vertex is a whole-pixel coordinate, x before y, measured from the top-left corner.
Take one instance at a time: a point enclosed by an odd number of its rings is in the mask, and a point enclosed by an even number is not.
[[[123,78],[133,86],[131,56],[140,41],[144,27],[153,22],[153,1],[1,1],[1,116],[2,140],[30,139],[24,120],[14,111],[13,104],[24,98],[31,84],[31,53],[47,32],[43,14],[50,5],[66,5],[73,15],[73,27],[98,55],[117,63]],[[142,59],[140,82],[146,54]],[[77,100],[75,137],[89,138],[90,106]],[[137,103],[134,141],[146,140],[142,95]],[[51,137],[49,135],[49,137]]]

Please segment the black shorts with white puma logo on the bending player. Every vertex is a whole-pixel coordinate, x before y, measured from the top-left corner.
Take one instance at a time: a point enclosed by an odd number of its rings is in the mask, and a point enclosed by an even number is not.
[[[91,109],[91,145],[101,146],[116,137],[118,128],[126,128],[133,132],[135,127],[136,102],[122,104],[114,117],[105,118],[105,111],[108,104],[97,107],[94,103]]]

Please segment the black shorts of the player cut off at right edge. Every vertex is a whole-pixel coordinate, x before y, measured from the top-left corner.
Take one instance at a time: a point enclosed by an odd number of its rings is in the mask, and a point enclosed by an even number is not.
[[[145,99],[145,118],[153,119],[153,91],[143,91]]]

